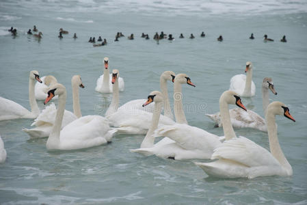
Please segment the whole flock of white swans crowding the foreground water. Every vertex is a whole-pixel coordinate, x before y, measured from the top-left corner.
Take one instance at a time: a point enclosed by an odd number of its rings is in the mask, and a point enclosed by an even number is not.
[[[145,135],[139,148],[131,150],[145,156],[155,155],[163,159],[215,159],[209,163],[195,163],[209,176],[221,178],[255,178],[258,176],[291,176],[292,167],[286,160],[280,144],[276,115],[294,118],[282,102],[269,103],[269,90],[277,94],[273,80],[263,79],[263,111],[265,119],[248,111],[240,96],[252,97],[256,86],[252,82],[252,63],[248,61],[245,74],[230,79],[230,89],[219,98],[219,113],[209,115],[217,126],[222,126],[224,136],[219,137],[196,126],[190,126],[185,118],[182,102],[182,86],[196,87],[187,74],[165,71],[159,83],[161,91],[152,91],[147,98],[126,102],[119,107],[119,95],[124,91],[124,79],[119,70],[109,73],[109,58],[103,59],[103,74],[96,82],[96,92],[113,93],[111,104],[101,115],[81,113],[79,87],[85,87],[79,75],[72,77],[73,113],[65,109],[66,87],[53,76],[40,78],[38,71],[29,73],[29,104],[31,111],[12,100],[0,97],[0,120],[17,118],[35,119],[33,128],[23,128],[32,138],[48,137],[47,150],[78,150],[101,146],[115,135]],[[168,99],[168,81],[174,83],[174,115]],[[44,105],[57,97],[54,103],[42,111],[37,100]],[[237,109],[228,109],[237,105]],[[164,115],[161,114],[163,108]],[[233,127],[256,128],[268,133],[270,152],[246,137],[237,137]],[[157,143],[155,139],[162,137]],[[1,139],[1,138],[0,138]],[[6,152],[0,140],[0,160]]]

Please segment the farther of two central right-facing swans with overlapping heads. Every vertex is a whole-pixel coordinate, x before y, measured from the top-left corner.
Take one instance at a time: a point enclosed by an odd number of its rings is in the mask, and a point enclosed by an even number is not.
[[[164,96],[163,98],[163,110],[164,116],[174,120],[172,109],[170,108],[170,101],[168,99],[168,81],[174,83],[175,73],[172,71],[165,71],[160,76],[160,88]],[[154,111],[155,103],[150,103],[150,105],[143,107],[142,105],[146,99],[137,99],[126,102],[124,105],[120,106],[118,109],[141,109],[144,111],[149,111],[152,113]]]

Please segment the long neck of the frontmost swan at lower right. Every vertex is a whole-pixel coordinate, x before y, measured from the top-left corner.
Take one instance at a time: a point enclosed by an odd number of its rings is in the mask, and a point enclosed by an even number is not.
[[[289,162],[286,160],[282,148],[280,148],[280,143],[277,136],[277,126],[275,115],[273,113],[267,112],[265,115],[265,120],[267,121],[267,134],[269,135],[269,150],[271,154],[279,161],[279,163],[292,173],[292,168]]]

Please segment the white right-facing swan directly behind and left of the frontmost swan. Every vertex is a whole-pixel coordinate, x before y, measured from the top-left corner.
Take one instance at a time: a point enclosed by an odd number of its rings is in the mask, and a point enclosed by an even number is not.
[[[235,94],[235,92],[232,92]],[[241,103],[241,98],[239,96],[235,97],[235,101],[232,102],[227,96],[222,96],[219,99],[219,105],[221,108],[221,113],[224,115],[224,131],[226,133],[226,139],[235,137],[235,132],[233,131],[228,113],[228,104],[235,104],[242,109],[245,109],[244,105]],[[196,126],[189,126],[187,124],[176,123],[174,125],[161,126],[155,131],[155,137],[166,137],[167,141],[174,141],[176,144],[176,149],[168,151],[163,151],[158,149],[159,146],[154,146],[153,148],[141,149],[143,153],[156,154],[157,156],[163,156],[163,158],[170,159],[210,159],[213,154],[213,150],[221,144],[219,137],[204,131]],[[149,154],[148,154],[149,155]]]

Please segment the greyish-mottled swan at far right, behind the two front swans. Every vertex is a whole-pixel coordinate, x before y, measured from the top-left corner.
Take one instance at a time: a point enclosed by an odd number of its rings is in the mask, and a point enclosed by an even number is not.
[[[277,92],[274,88],[273,81],[269,77],[265,77],[263,79],[262,84],[262,94],[263,94],[263,112],[267,109],[267,105],[269,105],[269,90],[273,92],[273,94],[277,95]],[[265,124],[265,119],[263,119],[260,115],[255,113],[254,111],[248,110],[243,111],[243,109],[230,109],[230,120],[231,124],[235,128],[255,128],[259,131],[267,132],[267,125]],[[206,114],[211,120],[215,122],[215,126],[222,126],[221,122],[221,114],[215,113],[213,115]]]

